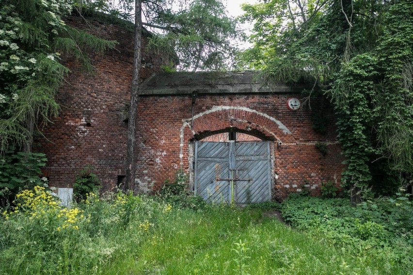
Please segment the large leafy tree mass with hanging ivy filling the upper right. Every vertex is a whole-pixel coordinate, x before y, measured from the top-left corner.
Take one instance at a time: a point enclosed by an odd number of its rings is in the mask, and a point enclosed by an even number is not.
[[[413,173],[411,1],[261,0],[243,10],[254,46],[240,65],[274,82],[314,81],[333,102],[355,201],[374,160]]]

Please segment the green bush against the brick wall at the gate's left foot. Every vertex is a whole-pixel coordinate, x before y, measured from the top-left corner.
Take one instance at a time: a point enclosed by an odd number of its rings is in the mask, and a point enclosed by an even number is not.
[[[176,207],[198,209],[205,206],[205,201],[200,196],[193,195],[188,187],[188,175],[181,170],[176,172],[174,182],[165,181],[158,195]]]

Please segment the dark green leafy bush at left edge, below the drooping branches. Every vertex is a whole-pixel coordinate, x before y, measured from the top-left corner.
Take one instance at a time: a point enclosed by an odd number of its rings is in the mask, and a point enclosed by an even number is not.
[[[39,177],[46,161],[43,153],[7,151],[0,159],[0,206],[12,204],[22,189],[47,185],[47,179]]]

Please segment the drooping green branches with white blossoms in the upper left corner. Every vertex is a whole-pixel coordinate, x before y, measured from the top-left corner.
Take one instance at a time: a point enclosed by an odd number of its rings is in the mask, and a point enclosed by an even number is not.
[[[85,49],[102,52],[114,41],[65,25],[72,6],[55,0],[3,0],[0,6],[0,152],[10,144],[31,146],[31,128],[56,116],[56,93],[68,69],[59,63],[70,53],[92,69]]]

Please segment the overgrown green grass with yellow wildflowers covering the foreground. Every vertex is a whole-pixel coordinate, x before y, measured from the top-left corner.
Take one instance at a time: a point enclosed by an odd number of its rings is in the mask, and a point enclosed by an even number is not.
[[[2,218],[0,274],[406,274],[399,262],[298,232],[260,208],[182,209],[115,194],[66,215],[38,201]]]

